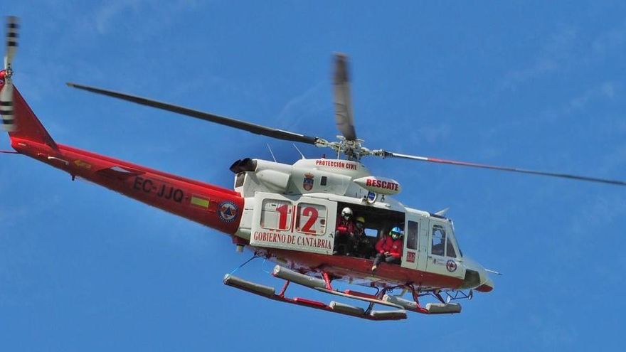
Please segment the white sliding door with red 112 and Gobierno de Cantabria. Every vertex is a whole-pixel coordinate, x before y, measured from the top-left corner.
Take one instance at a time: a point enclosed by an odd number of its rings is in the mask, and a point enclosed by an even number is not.
[[[335,202],[257,192],[250,245],[332,255],[335,223]]]

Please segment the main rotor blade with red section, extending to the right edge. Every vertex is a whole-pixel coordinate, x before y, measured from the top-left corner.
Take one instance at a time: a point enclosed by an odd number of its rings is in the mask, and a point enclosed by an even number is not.
[[[414,156],[414,155],[407,155],[407,154],[398,154],[398,153],[393,153],[391,151],[382,151],[382,153],[380,153],[379,155],[381,155],[383,157],[393,156],[394,158],[411,159],[411,160],[418,160],[418,161],[428,161],[430,163],[437,163],[437,164],[470,166],[470,167],[475,167],[475,168],[480,168],[480,169],[492,169],[492,170],[499,170],[499,171],[512,171],[512,172],[519,172],[521,174],[534,174],[534,175],[541,175],[541,176],[571,178],[573,180],[579,180],[579,181],[610,183],[610,184],[613,184],[613,185],[626,186],[626,181],[608,180],[606,178],[597,178],[597,177],[579,176],[579,175],[572,175],[572,174],[561,174],[561,173],[556,173],[556,172],[519,169],[519,168],[513,168],[513,167],[506,167],[506,166],[493,166],[493,165],[485,165],[485,164],[476,164],[476,163],[470,163],[470,162],[467,162],[467,161],[455,161],[455,160],[430,158],[430,157],[426,157],[426,156]]]

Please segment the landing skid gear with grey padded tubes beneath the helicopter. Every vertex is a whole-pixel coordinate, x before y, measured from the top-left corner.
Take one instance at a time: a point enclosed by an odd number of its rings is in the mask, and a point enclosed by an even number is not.
[[[413,293],[413,301],[388,295],[386,294],[386,289],[382,289],[381,292],[378,292],[378,294],[376,295],[366,294],[363,292],[355,292],[351,290],[345,290],[344,292],[340,292],[331,287],[331,279],[329,278],[329,275],[325,272],[322,273],[322,277],[324,277],[324,280],[322,280],[316,277],[310,277],[308,275],[300,274],[299,272],[294,272],[292,270],[285,269],[285,267],[280,267],[279,265],[277,265],[272,272],[272,276],[278,277],[280,279],[285,279],[285,284],[283,285],[279,293],[276,293],[274,287],[257,284],[255,282],[249,282],[245,279],[235,277],[231,274],[226,274],[226,276],[224,277],[224,284],[230,287],[235,287],[236,289],[242,289],[243,291],[258,294],[259,296],[273,299],[279,302],[296,304],[298,306],[307,306],[313,309],[330,311],[331,313],[344,314],[349,316],[355,316],[361,319],[376,321],[406,319],[406,311],[415,311],[422,314],[454,314],[460,313],[461,311],[461,306],[459,304],[450,304],[443,302],[440,304],[429,303],[426,304],[425,307],[420,306],[418,302],[418,293],[415,292],[413,289],[411,289],[411,292]],[[289,287],[290,282],[301,284],[305,287],[315,289],[319,292],[367,302],[369,305],[367,309],[363,309],[358,306],[352,306],[349,304],[335,301],[331,301],[329,304],[325,304],[323,302],[302,297],[286,297],[285,293],[287,292],[287,287]],[[392,308],[396,308],[396,310],[373,310],[372,308],[375,304],[390,306]]]

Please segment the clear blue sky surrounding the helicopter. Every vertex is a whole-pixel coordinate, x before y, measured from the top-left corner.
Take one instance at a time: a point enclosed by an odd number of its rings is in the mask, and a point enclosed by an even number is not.
[[[234,160],[270,159],[266,143],[279,161],[297,151],[64,83],[331,139],[331,53],[342,51],[370,148],[626,180],[622,1],[439,3],[24,0],[2,11],[21,17],[16,85],[63,144],[230,187]],[[0,159],[3,351],[622,346],[623,187],[366,160],[408,206],[450,206],[465,255],[504,272],[462,314],[374,323],[225,287],[249,257],[225,235]],[[279,287],[271,267],[238,274]]]

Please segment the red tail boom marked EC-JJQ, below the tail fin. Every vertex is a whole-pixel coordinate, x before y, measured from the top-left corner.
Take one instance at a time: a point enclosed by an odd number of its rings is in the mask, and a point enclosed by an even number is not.
[[[11,136],[11,146],[20,154],[66,171],[73,179],[85,178],[229,235],[238,229],[243,198],[235,191],[72,146],[53,145]]]

